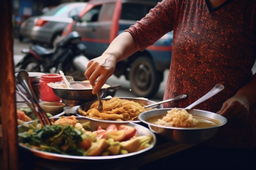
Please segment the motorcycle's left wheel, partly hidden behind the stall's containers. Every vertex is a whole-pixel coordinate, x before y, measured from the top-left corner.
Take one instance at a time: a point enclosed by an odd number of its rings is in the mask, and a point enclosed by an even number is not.
[[[41,67],[41,63],[31,56],[23,61],[20,69],[27,70],[29,72],[44,72]]]

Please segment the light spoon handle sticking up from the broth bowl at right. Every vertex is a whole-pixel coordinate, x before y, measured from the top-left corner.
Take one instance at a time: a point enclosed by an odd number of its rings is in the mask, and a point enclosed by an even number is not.
[[[190,106],[187,106],[185,109],[193,109],[194,106],[197,106],[198,104],[208,100],[210,97],[214,96],[215,94],[218,94],[218,92],[222,91],[223,89],[224,89],[224,85],[220,85],[220,84],[215,85],[215,87],[212,88],[211,91],[209,91],[203,97],[200,97],[200,99],[190,104]]]

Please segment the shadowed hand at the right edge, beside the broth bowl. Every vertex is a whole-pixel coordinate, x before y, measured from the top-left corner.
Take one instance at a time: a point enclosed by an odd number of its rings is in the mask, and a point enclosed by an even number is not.
[[[245,96],[236,94],[223,103],[217,113],[227,119],[244,120],[249,115],[249,103]]]

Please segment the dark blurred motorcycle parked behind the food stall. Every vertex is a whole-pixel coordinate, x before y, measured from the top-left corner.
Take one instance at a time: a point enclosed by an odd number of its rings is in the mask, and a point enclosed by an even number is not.
[[[54,49],[32,44],[29,49],[23,49],[26,55],[15,66],[28,72],[59,73],[62,70],[66,76],[73,76],[74,80],[86,79],[88,59],[84,56],[86,46],[81,43],[81,36],[72,31],[56,43]]]

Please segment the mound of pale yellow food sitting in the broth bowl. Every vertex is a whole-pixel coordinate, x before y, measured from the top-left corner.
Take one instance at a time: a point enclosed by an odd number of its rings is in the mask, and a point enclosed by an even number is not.
[[[154,124],[169,127],[193,127],[198,124],[198,121],[185,109],[174,108],[169,110],[162,119],[155,121]]]

